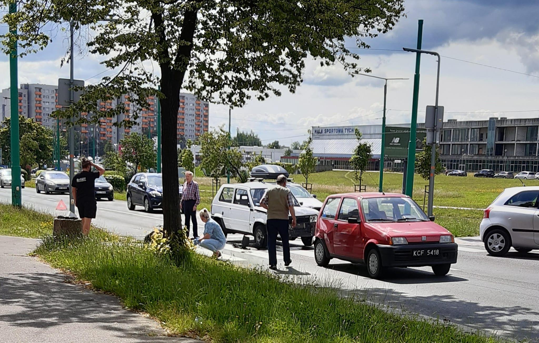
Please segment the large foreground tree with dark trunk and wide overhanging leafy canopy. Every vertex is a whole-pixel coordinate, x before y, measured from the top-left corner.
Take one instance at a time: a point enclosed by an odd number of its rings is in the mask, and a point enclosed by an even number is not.
[[[0,0],[0,5],[6,7],[10,1]],[[176,133],[179,91],[241,107],[252,97],[279,96],[285,87],[294,93],[302,83],[307,58],[322,66],[338,63],[349,73],[369,71],[358,67],[360,56],[357,50],[347,49],[348,42],[368,48],[368,38],[395,26],[404,13],[403,2],[20,0],[17,13],[4,15],[4,21],[18,28],[18,34],[6,31],[0,47],[7,54],[10,42],[18,39],[19,54],[25,56],[43,50],[56,38],[57,31],[51,26],[64,31],[71,22],[75,30],[84,29],[81,44],[87,39],[87,51],[102,56],[102,64],[118,74],[102,77],[101,82],[86,87],[80,101],[56,111],[61,118],[77,118],[75,125],[123,115],[123,106],[100,111],[98,104],[130,94],[132,118],[114,123],[130,126],[142,108],[149,106],[148,97],[157,94],[165,156],[163,224],[165,234],[170,235],[181,230]],[[100,21],[110,15],[114,20]],[[47,25],[51,22],[59,25]],[[143,66],[149,61],[160,73]],[[184,82],[186,73],[189,77]],[[79,116],[81,112],[96,115],[86,118]],[[187,246],[183,231],[177,237],[179,248]]]

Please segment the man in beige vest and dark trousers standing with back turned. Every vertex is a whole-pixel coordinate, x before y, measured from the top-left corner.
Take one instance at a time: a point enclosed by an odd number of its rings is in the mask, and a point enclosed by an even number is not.
[[[285,260],[285,266],[292,263],[290,259],[290,245],[288,242],[288,212],[292,216],[292,227],[296,226],[296,214],[294,212],[294,196],[286,188],[286,176],[279,175],[277,184],[266,190],[260,200],[260,206],[268,210],[267,213],[267,235],[268,235],[268,254],[269,269],[277,270],[277,234],[281,236],[282,255]]]

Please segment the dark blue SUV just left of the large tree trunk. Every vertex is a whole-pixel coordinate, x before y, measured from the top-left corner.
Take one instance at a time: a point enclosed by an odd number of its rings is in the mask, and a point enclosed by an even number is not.
[[[137,173],[127,184],[127,208],[134,210],[136,205],[151,212],[163,206],[163,178],[157,173]]]

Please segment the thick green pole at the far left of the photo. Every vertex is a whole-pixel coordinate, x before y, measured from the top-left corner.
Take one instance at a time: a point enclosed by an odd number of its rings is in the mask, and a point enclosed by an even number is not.
[[[17,3],[10,2],[9,12],[17,12]],[[10,32],[17,36],[17,26],[11,27]],[[9,54],[9,73],[10,73],[10,102],[11,102],[11,204],[15,207],[22,206],[20,194],[20,150],[19,150],[19,87],[18,67],[17,67],[17,38],[11,39],[11,53]]]

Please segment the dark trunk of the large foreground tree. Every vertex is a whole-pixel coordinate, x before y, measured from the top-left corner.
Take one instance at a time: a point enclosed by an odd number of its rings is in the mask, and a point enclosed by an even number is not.
[[[161,154],[163,173],[163,223],[167,237],[179,234],[185,235],[182,230],[182,217],[179,213],[179,183],[178,183],[178,136],[177,120],[179,108],[179,90],[181,89],[184,73],[170,70],[168,66],[161,66],[161,92],[165,99],[161,99]],[[183,232],[183,235],[182,235]]]

